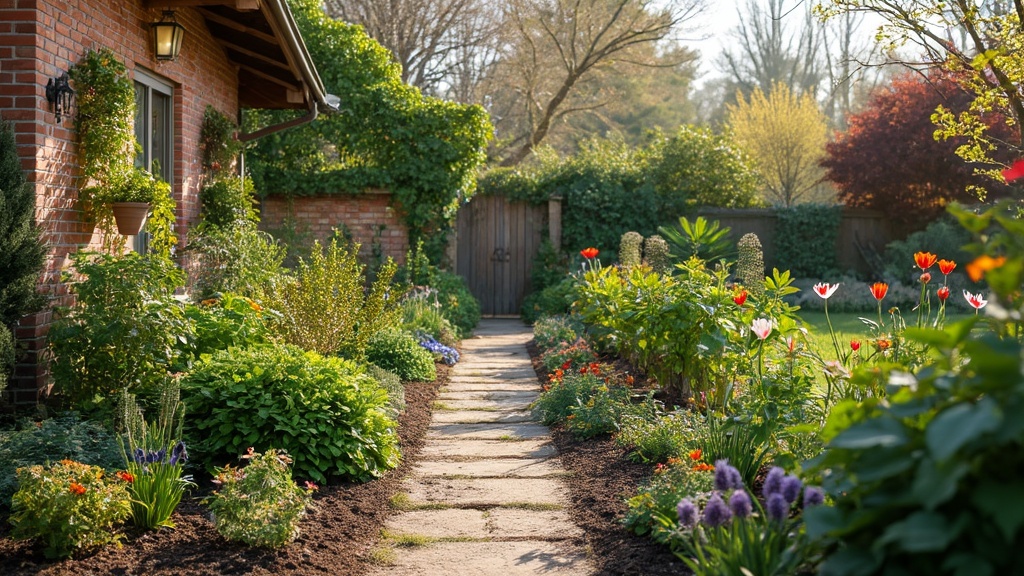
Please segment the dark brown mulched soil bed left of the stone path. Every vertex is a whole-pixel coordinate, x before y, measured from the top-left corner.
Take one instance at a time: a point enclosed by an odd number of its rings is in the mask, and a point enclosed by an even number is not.
[[[217,534],[207,509],[197,498],[182,501],[174,512],[174,530],[125,529],[121,547],[106,546],[77,560],[47,561],[30,543],[10,539],[6,517],[0,517],[0,574],[45,575],[228,575],[228,574],[359,574],[369,567],[368,552],[391,513],[389,500],[415,463],[430,424],[431,404],[447,381],[438,366],[434,382],[406,385],[406,412],[398,421],[402,463],[384,478],[367,484],[323,487],[315,508],[301,524],[301,535],[281,550],[250,548]]]

